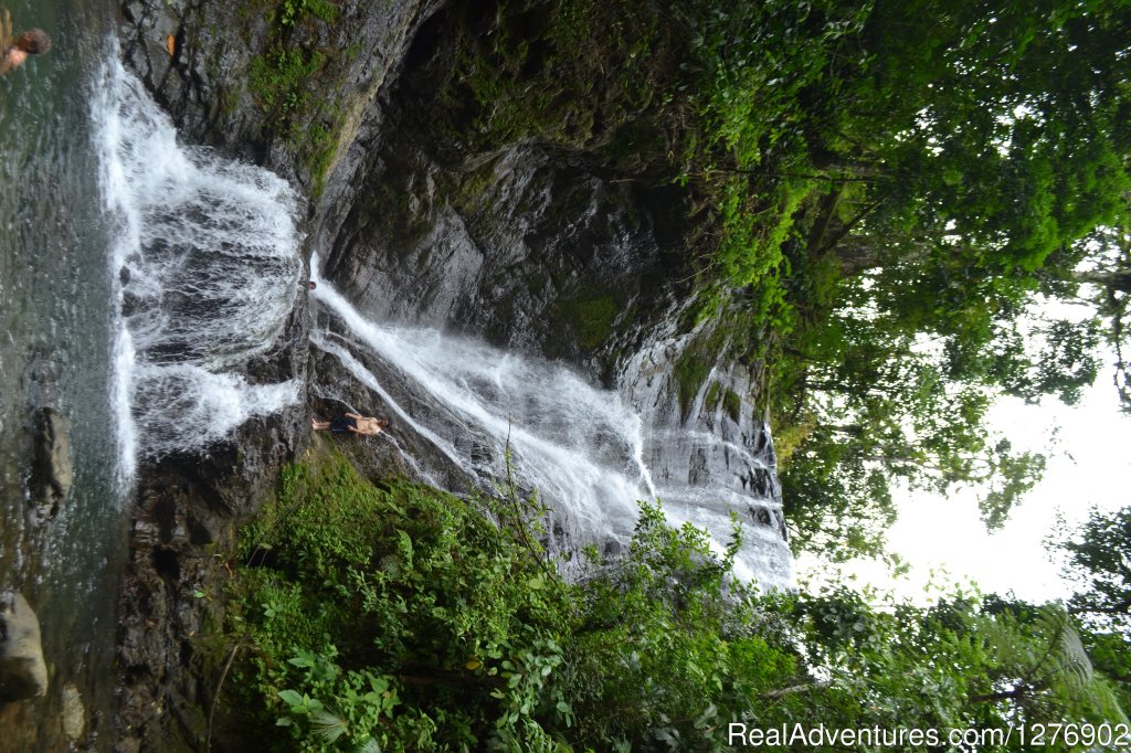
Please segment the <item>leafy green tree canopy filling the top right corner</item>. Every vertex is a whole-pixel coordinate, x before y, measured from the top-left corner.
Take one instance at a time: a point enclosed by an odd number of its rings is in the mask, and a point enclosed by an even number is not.
[[[1043,459],[986,432],[993,398],[1073,401],[1097,373],[1095,320],[1021,318],[1126,216],[1125,3],[689,6],[685,174],[774,366],[795,546],[874,553],[897,478],[990,484],[1000,525]]]

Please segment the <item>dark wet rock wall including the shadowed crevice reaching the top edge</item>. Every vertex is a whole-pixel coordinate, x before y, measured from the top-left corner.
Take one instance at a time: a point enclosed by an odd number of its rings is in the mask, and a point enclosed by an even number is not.
[[[627,170],[601,136],[481,138],[450,88],[460,34],[493,33],[467,15],[430,18],[382,89],[323,272],[373,320],[483,336],[611,384],[623,352],[690,294],[674,282],[690,276],[689,199]]]

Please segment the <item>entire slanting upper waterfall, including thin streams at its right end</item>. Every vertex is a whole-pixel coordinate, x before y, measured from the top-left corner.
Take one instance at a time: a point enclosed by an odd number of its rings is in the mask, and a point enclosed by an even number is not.
[[[732,530],[729,510],[752,502],[722,484],[654,482],[647,448],[668,440],[646,436],[640,415],[616,392],[593,387],[562,364],[434,329],[377,324],[318,277],[317,257],[311,269],[316,300],[343,326],[342,335],[316,328],[313,345],[379,396],[396,425],[423,438],[481,486],[504,477],[509,448],[516,478],[537,490],[572,543],[627,542],[637,501],[659,497],[670,522],[706,528],[722,552]],[[366,358],[381,364],[395,389],[366,367]],[[672,441],[735,458],[744,453],[714,436]],[[780,537],[749,525],[743,530],[748,545],[736,559],[736,574],[787,586],[789,557]]]

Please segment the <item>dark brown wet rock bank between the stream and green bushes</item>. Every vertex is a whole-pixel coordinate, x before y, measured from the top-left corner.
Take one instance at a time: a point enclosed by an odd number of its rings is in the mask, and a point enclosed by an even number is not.
[[[247,378],[305,380],[305,305]],[[129,561],[119,596],[120,669],[115,751],[197,751],[207,735],[213,677],[197,637],[223,621],[224,557],[238,528],[274,493],[279,471],[302,449],[307,408],[252,418],[207,451],[174,455],[138,469]],[[219,556],[216,556],[219,554]],[[200,678],[207,676],[208,681]],[[157,709],[159,712],[155,713]],[[214,750],[218,747],[214,741]]]

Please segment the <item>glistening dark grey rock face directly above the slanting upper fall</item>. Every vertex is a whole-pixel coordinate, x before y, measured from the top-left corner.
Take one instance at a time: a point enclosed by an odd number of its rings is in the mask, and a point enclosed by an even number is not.
[[[611,180],[539,144],[443,164],[399,128],[359,192],[326,275],[369,318],[452,327],[606,370],[618,334],[679,294],[672,193]]]

